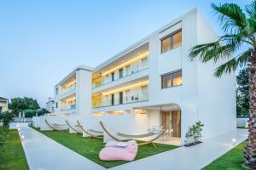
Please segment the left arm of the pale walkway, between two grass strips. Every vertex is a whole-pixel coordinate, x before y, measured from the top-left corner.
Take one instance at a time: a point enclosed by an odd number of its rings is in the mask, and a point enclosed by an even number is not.
[[[26,123],[17,123],[31,170],[97,170],[105,169],[93,161],[80,156],[73,150],[56,143],[42,133],[38,133]]]

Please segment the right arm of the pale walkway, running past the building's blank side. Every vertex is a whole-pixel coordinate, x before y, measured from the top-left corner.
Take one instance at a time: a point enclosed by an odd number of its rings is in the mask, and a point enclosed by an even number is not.
[[[197,144],[189,148],[180,147],[142,160],[132,161],[119,167],[113,167],[111,170],[199,170],[245,139],[247,139],[247,130],[236,129],[234,132],[225,133],[216,138],[209,139],[202,144]]]

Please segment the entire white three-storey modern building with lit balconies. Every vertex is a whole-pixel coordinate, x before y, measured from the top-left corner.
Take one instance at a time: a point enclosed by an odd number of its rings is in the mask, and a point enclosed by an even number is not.
[[[180,144],[195,122],[205,139],[236,128],[236,76],[213,76],[220,63],[191,61],[190,48],[218,38],[195,8],[96,68],[77,67],[55,86],[64,115],[146,115]],[[131,125],[132,126],[132,125]]]

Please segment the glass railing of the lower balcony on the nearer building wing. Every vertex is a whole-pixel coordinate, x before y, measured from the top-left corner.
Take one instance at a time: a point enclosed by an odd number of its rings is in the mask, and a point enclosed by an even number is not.
[[[114,98],[112,99],[105,99],[102,101],[102,103],[96,103],[93,104],[93,108],[100,108],[100,107],[107,107],[111,105],[125,105],[125,104],[131,104],[135,102],[141,102],[141,101],[147,101],[148,100],[148,92],[143,94],[135,94],[131,96],[126,96],[123,99]]]

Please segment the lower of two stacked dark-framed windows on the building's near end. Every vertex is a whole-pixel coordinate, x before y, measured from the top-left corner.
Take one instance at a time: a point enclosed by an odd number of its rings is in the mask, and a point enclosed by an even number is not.
[[[162,88],[171,88],[183,84],[182,71],[168,73],[161,77]]]

